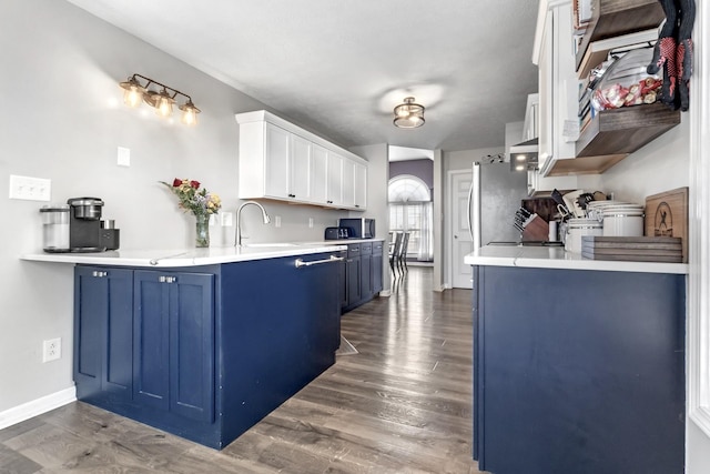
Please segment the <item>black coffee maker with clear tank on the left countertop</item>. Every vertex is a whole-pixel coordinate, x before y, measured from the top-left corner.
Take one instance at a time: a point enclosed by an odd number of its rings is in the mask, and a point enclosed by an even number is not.
[[[118,250],[119,229],[101,220],[99,198],[71,198],[67,204],[45,205],[42,214],[42,249],[48,253]]]

